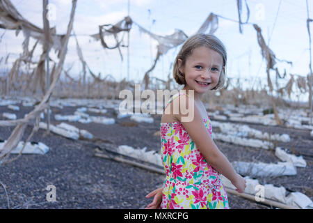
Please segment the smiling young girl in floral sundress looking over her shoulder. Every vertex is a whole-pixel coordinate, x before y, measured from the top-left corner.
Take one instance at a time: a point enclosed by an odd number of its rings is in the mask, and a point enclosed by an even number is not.
[[[201,102],[205,92],[223,87],[226,61],[225,47],[213,35],[191,36],[180,49],[173,76],[184,88],[172,96],[160,124],[166,180],[163,187],[147,194],[147,198],[154,197],[147,208],[229,208],[220,174],[237,192],[245,190],[246,180],[236,174],[214,143],[211,121]],[[178,114],[173,112],[175,105],[179,105]],[[191,121],[186,121],[182,108],[193,109]]]

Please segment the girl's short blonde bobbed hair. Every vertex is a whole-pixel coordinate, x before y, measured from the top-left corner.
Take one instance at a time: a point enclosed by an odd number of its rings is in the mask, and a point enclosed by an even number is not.
[[[186,84],[186,79],[184,74],[179,71],[178,59],[182,60],[182,66],[186,63],[186,59],[193,53],[193,49],[198,47],[208,47],[209,49],[218,52],[223,57],[223,66],[226,68],[227,62],[227,52],[222,41],[220,41],[216,36],[211,34],[198,33],[186,40],[182,49],[179,50],[179,53],[176,56],[174,67],[172,69],[172,75],[177,82],[177,84]],[[222,69],[220,72],[220,78],[218,79],[218,84],[212,89],[217,90],[221,89],[225,83],[225,70]]]

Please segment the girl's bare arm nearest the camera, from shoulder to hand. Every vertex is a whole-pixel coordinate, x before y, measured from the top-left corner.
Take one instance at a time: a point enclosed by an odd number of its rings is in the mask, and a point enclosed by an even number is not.
[[[214,167],[216,171],[228,178],[237,188],[238,192],[243,192],[244,188],[246,187],[246,180],[244,180],[239,174],[236,173],[232,167],[232,164],[230,164],[230,162],[227,160],[227,157],[225,157],[225,155],[220,152],[213,139],[211,139],[211,136],[209,135],[209,132],[207,131],[207,128],[205,128],[202,121],[200,111],[198,107],[195,106],[193,99],[186,95],[181,95],[178,98],[182,99],[179,100],[180,106],[177,118],[182,122],[182,125],[184,125],[184,128],[188,132],[191,139],[193,139],[195,142],[204,159],[208,164]],[[193,111],[188,107],[189,102],[191,102],[191,106],[194,108]],[[182,120],[182,117],[186,117],[188,115],[186,114],[186,109],[184,108],[188,108],[188,112],[193,112],[193,119],[191,121]]]

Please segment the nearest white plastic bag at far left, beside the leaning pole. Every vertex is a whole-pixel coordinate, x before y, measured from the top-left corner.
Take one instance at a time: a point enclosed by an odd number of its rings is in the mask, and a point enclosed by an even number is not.
[[[3,147],[3,145],[6,143],[6,141],[0,142],[0,151]],[[14,148],[10,153],[18,154],[20,151],[22,151],[22,148],[24,146],[24,141],[19,141],[17,144],[17,147]],[[26,143],[26,146],[24,150],[22,151],[22,154],[46,154],[49,151],[49,147],[43,144],[42,142],[38,143],[31,143],[28,141]]]

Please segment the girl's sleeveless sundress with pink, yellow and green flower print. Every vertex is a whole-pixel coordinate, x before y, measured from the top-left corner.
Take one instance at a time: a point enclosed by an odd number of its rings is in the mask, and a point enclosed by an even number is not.
[[[168,104],[178,95],[183,93],[173,95]],[[212,137],[209,115],[203,123]],[[161,157],[166,171],[160,208],[230,208],[220,174],[204,160],[184,125],[179,121],[160,123],[160,132]]]

